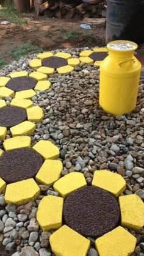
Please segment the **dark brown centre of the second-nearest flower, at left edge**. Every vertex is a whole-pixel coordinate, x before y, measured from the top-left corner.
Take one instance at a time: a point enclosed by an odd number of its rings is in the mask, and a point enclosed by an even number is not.
[[[0,177],[7,183],[34,178],[42,164],[42,156],[34,149],[14,149],[1,156]]]

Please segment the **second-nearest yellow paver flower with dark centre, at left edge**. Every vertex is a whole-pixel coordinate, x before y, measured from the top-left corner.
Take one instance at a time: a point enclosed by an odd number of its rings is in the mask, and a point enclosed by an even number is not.
[[[6,203],[21,205],[35,200],[40,194],[37,183],[53,185],[60,178],[63,166],[57,159],[59,148],[52,142],[40,141],[31,148],[31,137],[18,136],[6,139],[3,146],[0,192],[6,187]]]

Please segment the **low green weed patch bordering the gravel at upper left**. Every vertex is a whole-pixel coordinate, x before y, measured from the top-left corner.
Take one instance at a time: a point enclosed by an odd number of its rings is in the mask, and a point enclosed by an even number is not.
[[[31,42],[24,43],[23,45],[16,46],[10,49],[7,54],[13,59],[18,60],[21,56],[27,54],[40,53],[43,51],[43,46],[33,45]]]

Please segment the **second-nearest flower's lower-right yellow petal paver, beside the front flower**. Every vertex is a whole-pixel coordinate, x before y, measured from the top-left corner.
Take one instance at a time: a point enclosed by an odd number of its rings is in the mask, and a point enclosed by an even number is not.
[[[52,186],[54,182],[59,180],[63,165],[59,160],[45,160],[39,172],[36,175],[36,180],[40,184]]]

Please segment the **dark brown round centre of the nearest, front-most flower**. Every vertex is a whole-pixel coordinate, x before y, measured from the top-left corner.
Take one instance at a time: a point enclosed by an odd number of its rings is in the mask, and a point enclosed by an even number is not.
[[[120,208],[112,194],[88,186],[67,197],[63,218],[71,229],[81,235],[98,238],[118,226]]]

